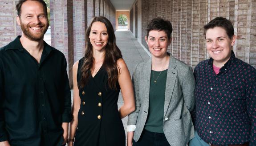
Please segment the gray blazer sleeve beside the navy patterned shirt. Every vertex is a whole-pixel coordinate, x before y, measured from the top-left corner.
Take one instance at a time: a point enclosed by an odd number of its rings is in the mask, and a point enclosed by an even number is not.
[[[195,90],[195,78],[193,75],[192,67],[186,71],[183,82],[182,82],[182,92],[184,103],[187,106],[189,111],[194,110],[195,107],[195,98],[194,98],[194,90]]]

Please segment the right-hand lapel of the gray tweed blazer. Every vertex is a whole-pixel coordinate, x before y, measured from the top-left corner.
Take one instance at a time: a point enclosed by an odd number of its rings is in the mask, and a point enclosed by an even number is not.
[[[165,88],[165,98],[164,98],[164,116],[166,115],[167,109],[171,102],[172,92],[177,79],[177,70],[175,70],[175,67],[176,67],[176,60],[170,55],[169,67],[167,71],[166,88]]]

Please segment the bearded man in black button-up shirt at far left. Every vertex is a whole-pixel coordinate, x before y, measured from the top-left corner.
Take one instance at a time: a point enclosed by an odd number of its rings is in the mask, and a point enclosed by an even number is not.
[[[0,49],[0,146],[62,146],[71,121],[65,56],[44,42],[44,0],[19,0],[22,36]]]

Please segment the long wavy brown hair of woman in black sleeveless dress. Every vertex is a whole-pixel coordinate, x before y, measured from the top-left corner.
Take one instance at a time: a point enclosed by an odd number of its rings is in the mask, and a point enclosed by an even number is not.
[[[91,76],[90,69],[93,68],[94,58],[93,58],[93,46],[90,43],[89,35],[91,32],[91,27],[94,22],[102,22],[106,25],[107,33],[109,35],[108,43],[105,46],[105,58],[102,67],[104,67],[108,74],[108,85],[110,89],[117,89],[116,83],[118,81],[119,67],[117,65],[117,60],[122,58],[122,54],[118,46],[116,45],[116,37],[114,34],[114,29],[110,21],[104,16],[94,17],[91,24],[86,29],[85,32],[85,59],[81,67],[81,79],[78,82],[78,87],[81,89],[88,84],[89,77]]]

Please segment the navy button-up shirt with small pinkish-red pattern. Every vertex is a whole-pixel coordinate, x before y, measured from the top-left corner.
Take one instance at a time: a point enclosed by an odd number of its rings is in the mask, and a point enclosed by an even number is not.
[[[219,74],[213,59],[195,67],[195,129],[215,145],[256,146],[256,69],[234,52]]]

